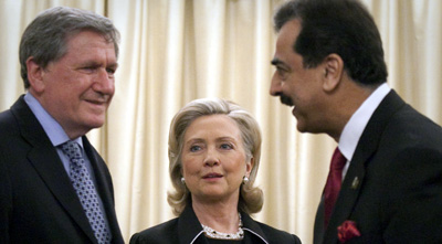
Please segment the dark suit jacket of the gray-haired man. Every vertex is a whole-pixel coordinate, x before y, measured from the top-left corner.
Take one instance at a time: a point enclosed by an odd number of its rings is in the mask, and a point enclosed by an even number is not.
[[[83,141],[113,243],[123,243],[109,171]],[[23,96],[0,114],[0,243],[96,243],[63,163]]]

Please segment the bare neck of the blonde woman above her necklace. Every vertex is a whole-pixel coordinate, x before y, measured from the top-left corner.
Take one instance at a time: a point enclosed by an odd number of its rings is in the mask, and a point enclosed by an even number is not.
[[[235,233],[240,224],[238,201],[235,204],[200,203],[192,201],[193,211],[201,224],[224,233]]]

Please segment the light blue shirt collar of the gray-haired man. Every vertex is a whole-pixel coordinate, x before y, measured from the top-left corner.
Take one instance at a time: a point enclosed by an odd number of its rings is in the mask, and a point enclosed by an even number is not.
[[[63,127],[43,108],[40,102],[32,96],[31,93],[28,92],[24,95],[24,102],[35,115],[54,147],[57,147],[70,140]],[[83,147],[83,140],[81,137],[73,139],[73,141],[76,141],[81,147]]]

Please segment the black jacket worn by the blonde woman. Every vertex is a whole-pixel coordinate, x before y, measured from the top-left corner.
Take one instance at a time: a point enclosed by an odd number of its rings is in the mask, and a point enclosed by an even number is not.
[[[286,232],[273,229],[266,224],[252,220],[246,213],[241,213],[244,240],[242,243],[301,243],[299,238]],[[130,238],[130,244],[209,244],[202,233],[193,209],[188,204],[179,218],[136,233]]]

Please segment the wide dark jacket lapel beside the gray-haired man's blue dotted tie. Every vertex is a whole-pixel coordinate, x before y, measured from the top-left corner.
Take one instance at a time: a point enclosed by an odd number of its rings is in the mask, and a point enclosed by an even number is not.
[[[17,117],[22,137],[31,145],[28,153],[30,163],[35,168],[41,179],[54,198],[80,225],[91,241],[96,242],[92,227],[84,214],[83,206],[63,168],[63,163],[50,139],[21,97],[11,110]]]

